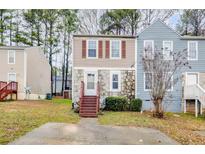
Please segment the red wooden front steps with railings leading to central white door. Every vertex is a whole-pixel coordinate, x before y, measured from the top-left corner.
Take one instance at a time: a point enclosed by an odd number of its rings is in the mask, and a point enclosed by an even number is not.
[[[96,96],[84,95],[84,82],[81,82],[80,96],[80,116],[81,117],[97,117],[99,111],[99,84],[97,84]]]

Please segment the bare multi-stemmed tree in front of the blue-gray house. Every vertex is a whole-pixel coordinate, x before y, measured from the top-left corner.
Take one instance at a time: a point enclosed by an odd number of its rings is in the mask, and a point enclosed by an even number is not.
[[[168,55],[162,54],[162,50],[155,50],[152,54],[147,48],[142,56],[145,86],[155,107],[153,115],[158,118],[164,115],[163,100],[171,96],[170,89],[181,79],[181,70],[190,68],[186,50],[170,51]]]

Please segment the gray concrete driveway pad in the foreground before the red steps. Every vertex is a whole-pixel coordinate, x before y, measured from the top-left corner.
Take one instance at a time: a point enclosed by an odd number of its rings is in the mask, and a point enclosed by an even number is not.
[[[158,130],[99,125],[83,118],[79,124],[47,123],[10,144],[178,144]]]

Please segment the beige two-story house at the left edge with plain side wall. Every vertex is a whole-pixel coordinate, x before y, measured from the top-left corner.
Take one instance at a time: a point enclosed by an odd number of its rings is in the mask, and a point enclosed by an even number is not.
[[[5,83],[1,98],[6,96],[6,84],[15,81],[18,99],[44,99],[50,93],[50,71],[40,47],[0,47],[0,81]]]

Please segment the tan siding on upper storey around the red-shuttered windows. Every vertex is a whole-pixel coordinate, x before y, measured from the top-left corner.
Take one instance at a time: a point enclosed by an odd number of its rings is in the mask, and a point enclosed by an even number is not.
[[[102,58],[97,58],[97,59],[82,58],[82,41],[89,40],[89,39],[102,40],[102,47],[103,47]],[[105,52],[106,52],[105,41],[108,40],[126,41],[126,58],[121,58],[121,59],[105,58]],[[73,41],[74,41],[73,42],[73,66],[74,67],[130,68],[135,63],[135,39],[134,38],[74,37]]]

